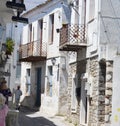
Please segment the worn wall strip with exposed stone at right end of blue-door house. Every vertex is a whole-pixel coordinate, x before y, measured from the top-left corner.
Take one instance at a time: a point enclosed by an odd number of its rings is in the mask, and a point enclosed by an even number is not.
[[[59,71],[56,71],[56,75],[59,72],[59,81],[56,90],[58,91],[58,114],[66,115],[67,113],[67,87],[68,87],[68,69],[67,58],[65,56],[60,57]],[[64,65],[63,65],[64,64]],[[56,68],[56,70],[58,70]]]

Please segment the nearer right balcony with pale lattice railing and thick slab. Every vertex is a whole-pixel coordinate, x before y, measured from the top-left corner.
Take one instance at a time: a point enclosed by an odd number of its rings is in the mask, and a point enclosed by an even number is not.
[[[85,25],[63,25],[60,30],[60,51],[78,51],[86,46]]]

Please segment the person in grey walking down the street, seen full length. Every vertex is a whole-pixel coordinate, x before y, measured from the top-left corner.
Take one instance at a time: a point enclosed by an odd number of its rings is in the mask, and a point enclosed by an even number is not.
[[[15,90],[15,105],[16,109],[20,109],[20,97],[22,95],[22,91],[20,90],[20,86],[17,87],[17,90]]]

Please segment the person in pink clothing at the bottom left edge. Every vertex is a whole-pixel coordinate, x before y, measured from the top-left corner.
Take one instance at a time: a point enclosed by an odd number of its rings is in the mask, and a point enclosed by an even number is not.
[[[6,98],[0,93],[0,126],[5,126],[6,116],[8,114],[8,105],[5,104]]]

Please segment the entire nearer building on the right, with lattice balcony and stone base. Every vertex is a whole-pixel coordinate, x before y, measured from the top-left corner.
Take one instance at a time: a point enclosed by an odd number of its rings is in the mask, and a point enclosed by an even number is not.
[[[60,50],[75,52],[70,61],[76,55],[69,64],[69,118],[79,125],[118,126],[120,1],[69,0],[68,4],[73,18],[63,28],[66,33],[61,32]]]

